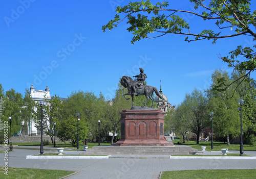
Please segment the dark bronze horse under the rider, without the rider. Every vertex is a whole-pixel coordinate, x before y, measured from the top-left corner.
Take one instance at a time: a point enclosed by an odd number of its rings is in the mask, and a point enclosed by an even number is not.
[[[120,84],[124,87],[128,89],[128,93],[123,94],[123,96],[125,97],[125,99],[130,99],[130,98],[126,98],[125,95],[131,95],[132,96],[132,100],[133,100],[133,96],[134,96],[134,91],[132,90],[131,86],[135,81],[130,77],[130,76],[122,76],[122,79],[120,80]],[[154,106],[154,99],[153,99],[153,92],[155,91],[156,95],[158,95],[161,99],[163,99],[162,95],[159,93],[158,89],[156,87],[153,86],[142,86],[142,88],[137,88],[137,94],[139,96],[145,95],[146,97],[146,101],[144,103],[144,106],[146,106],[146,103],[148,101],[148,99],[152,100],[152,107]],[[134,106],[134,100],[133,100],[133,105]],[[142,107],[144,107],[142,106]]]

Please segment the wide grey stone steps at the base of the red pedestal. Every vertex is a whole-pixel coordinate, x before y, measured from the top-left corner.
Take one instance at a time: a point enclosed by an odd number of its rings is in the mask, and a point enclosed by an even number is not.
[[[198,150],[189,146],[95,146],[81,155],[189,155]]]

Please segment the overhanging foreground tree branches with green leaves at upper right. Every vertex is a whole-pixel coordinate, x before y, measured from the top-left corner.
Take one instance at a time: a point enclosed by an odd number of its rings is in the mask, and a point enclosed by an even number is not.
[[[130,2],[124,7],[117,7],[117,13],[124,13],[124,17],[120,18],[118,14],[113,20],[110,20],[106,25],[102,26],[102,31],[106,29],[110,31],[117,25],[126,20],[130,25],[127,31],[132,32],[134,37],[132,44],[139,41],[141,38],[156,38],[167,34],[184,35],[185,41],[212,40],[216,43],[218,39],[249,36],[256,40],[255,33],[255,15],[256,11],[251,11],[250,0],[189,0],[194,4],[194,9],[202,8],[202,14],[197,11],[179,10],[176,8],[167,9],[168,2],[157,3],[153,5],[150,0]],[[214,30],[204,29],[201,32],[197,30],[197,25],[188,24],[182,19],[179,14],[186,13],[195,15],[199,19],[212,22],[215,26]],[[147,16],[148,15],[148,16]],[[216,31],[215,31],[216,29]],[[231,30],[231,31],[230,31]],[[190,39],[191,38],[191,39]],[[227,62],[229,67],[234,67],[237,70],[245,71],[241,76],[241,80],[249,78],[250,73],[256,68],[256,54],[253,48],[239,45],[229,54],[230,57],[220,57],[224,62]],[[245,59],[244,62],[237,60],[238,57]],[[219,90],[226,90],[231,84],[226,84],[223,79],[220,79],[220,84],[217,86]]]

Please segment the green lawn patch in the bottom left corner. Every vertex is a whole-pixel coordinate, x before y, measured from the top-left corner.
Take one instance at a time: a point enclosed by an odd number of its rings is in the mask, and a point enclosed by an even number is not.
[[[42,169],[30,169],[30,168],[8,168],[8,175],[5,174],[4,167],[0,167],[0,178],[61,178],[67,176],[74,171],[63,171],[63,170],[42,170]]]

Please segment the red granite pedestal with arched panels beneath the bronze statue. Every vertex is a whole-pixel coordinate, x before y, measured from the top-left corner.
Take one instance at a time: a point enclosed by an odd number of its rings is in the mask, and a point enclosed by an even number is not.
[[[123,110],[121,139],[113,146],[170,146],[164,139],[164,112],[161,110]]]

